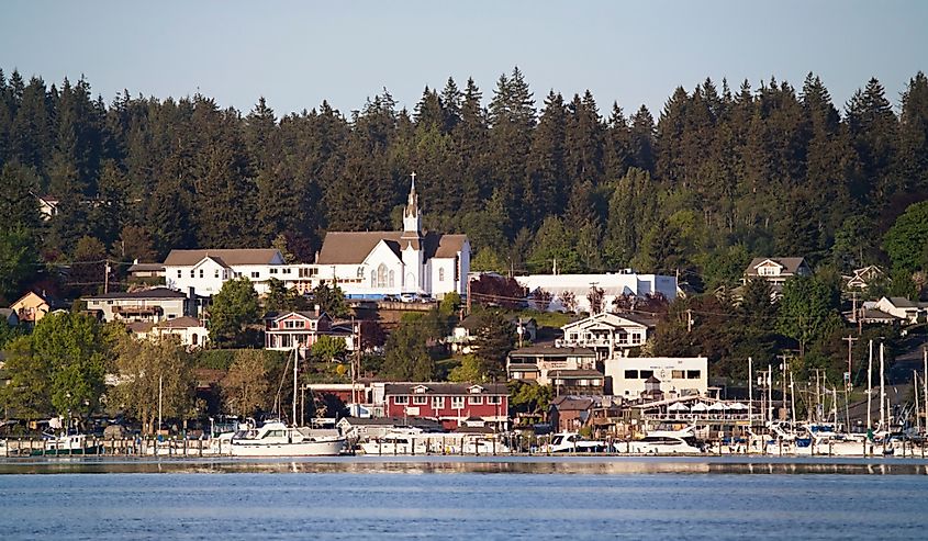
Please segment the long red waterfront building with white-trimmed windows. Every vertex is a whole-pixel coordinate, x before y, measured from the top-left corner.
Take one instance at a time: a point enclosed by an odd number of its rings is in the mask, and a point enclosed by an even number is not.
[[[455,429],[468,417],[480,417],[500,428],[508,424],[505,383],[385,383],[383,409],[388,417],[427,417]]]

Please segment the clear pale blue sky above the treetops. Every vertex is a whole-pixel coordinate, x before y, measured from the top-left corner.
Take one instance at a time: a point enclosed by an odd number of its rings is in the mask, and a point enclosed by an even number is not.
[[[608,114],[657,116],[673,89],[819,75],[839,109],[871,77],[898,94],[928,70],[928,1],[41,1],[0,3],[0,68],[47,82],[85,74],[107,102],[198,91],[281,114],[323,99],[346,114],[387,87],[468,77],[492,97],[518,65],[540,105],[590,89]]]

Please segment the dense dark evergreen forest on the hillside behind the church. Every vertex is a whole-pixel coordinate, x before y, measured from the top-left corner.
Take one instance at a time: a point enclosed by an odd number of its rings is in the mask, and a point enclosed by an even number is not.
[[[0,293],[46,262],[99,286],[98,261],[171,248],[273,244],[309,262],[325,230],[399,227],[413,170],[426,227],[467,233],[477,269],[557,260],[712,288],[752,255],[886,261],[883,234],[928,193],[928,79],[897,110],[885,94],[871,79],[840,106],[813,74],[706,79],[656,115],[589,91],[536,98],[515,68],[487,99],[449,78],[412,111],[384,89],[348,113],[279,117],[264,99],[247,113],[202,94],[107,103],[83,78],[0,71]],[[33,194],[58,199],[57,216],[43,222]]]

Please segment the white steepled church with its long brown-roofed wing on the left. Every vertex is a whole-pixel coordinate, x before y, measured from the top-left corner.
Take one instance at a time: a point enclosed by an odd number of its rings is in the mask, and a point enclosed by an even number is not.
[[[465,295],[469,272],[467,235],[422,230],[415,173],[402,232],[328,232],[315,263],[287,264],[273,249],[171,250],[165,260],[167,285],[198,295],[213,295],[226,280],[245,277],[258,294],[273,278],[301,293],[335,282],[349,298],[441,298],[450,292]]]

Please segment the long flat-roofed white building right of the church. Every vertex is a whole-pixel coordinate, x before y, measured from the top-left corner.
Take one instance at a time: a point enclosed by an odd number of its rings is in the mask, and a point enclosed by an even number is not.
[[[636,295],[639,297],[662,295],[668,301],[677,298],[677,278],[660,274],[638,274],[631,269],[623,272],[605,274],[529,274],[514,277],[528,290],[529,296],[539,290],[551,294],[551,302],[547,306],[549,312],[571,312],[563,305],[561,295],[572,293],[577,302],[574,312],[590,312],[590,301],[586,295],[595,286],[603,290],[603,306],[607,309],[613,301],[619,296]],[[534,303],[534,301],[533,301]],[[540,306],[534,306],[540,308]]]

